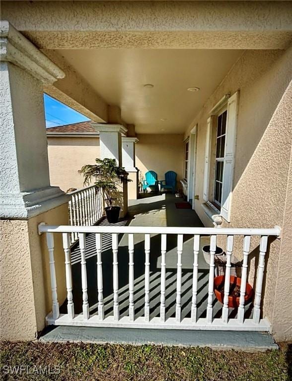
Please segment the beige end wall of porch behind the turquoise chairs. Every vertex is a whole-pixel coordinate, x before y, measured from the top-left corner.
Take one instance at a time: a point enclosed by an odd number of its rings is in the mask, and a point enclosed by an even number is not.
[[[143,178],[147,171],[157,173],[158,180],[164,179],[167,171],[177,173],[177,181],[183,176],[183,135],[138,134],[136,144],[136,167]]]

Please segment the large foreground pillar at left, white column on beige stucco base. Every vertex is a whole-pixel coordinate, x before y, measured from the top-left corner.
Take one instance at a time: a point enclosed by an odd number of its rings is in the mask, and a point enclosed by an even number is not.
[[[43,102],[43,85],[64,73],[7,21],[0,36],[1,339],[29,340],[49,312],[37,224],[68,224],[68,196],[50,186]],[[66,288],[57,286],[62,302]]]

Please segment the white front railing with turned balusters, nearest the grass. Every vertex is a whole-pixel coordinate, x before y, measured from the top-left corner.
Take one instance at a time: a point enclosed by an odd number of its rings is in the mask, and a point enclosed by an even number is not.
[[[238,330],[269,330],[270,323],[266,318],[260,318],[261,295],[263,277],[265,271],[265,254],[269,236],[279,237],[280,227],[274,229],[233,229],[233,228],[185,228],[185,227],[137,227],[137,226],[47,226],[39,225],[39,232],[46,233],[47,245],[50,258],[51,287],[52,287],[52,313],[47,316],[47,323],[56,325],[89,325],[89,326],[123,326],[141,328],[175,328],[175,329],[238,329]],[[54,234],[63,235],[63,246],[66,263],[66,286],[68,313],[60,315],[57,297],[57,280],[54,262]],[[72,272],[70,262],[69,235],[78,234],[81,252],[81,284],[82,284],[82,314],[74,315],[72,298]],[[96,237],[96,258],[97,258],[97,293],[98,312],[90,315],[87,299],[87,279],[86,279],[86,233],[93,233]],[[102,290],[102,233],[111,234],[113,252],[113,316],[105,318],[104,300]],[[145,303],[144,317],[135,318],[134,305],[134,235],[145,235]],[[129,315],[120,318],[119,316],[119,286],[118,286],[118,234],[128,235],[129,248]],[[149,263],[150,263],[150,234],[161,236],[161,272],[160,272],[160,316],[150,319],[149,316]],[[177,280],[176,280],[176,308],[175,318],[165,319],[165,256],[167,235],[177,236]],[[182,287],[182,256],[183,256],[183,236],[192,235],[194,237],[193,246],[193,282],[191,317],[181,318],[181,287]],[[200,252],[200,236],[210,236],[210,268],[208,282],[207,317],[197,317],[197,294],[198,294],[198,255]],[[218,236],[226,236],[226,272],[224,282],[224,300],[221,311],[221,318],[213,316],[213,292],[214,292],[214,259]],[[228,295],[230,284],[231,254],[233,250],[234,236],[243,237],[243,261],[240,286],[240,303],[237,317],[228,318]],[[244,318],[244,296],[247,280],[248,255],[250,251],[250,239],[252,236],[259,238],[259,261],[256,275],[256,286],[254,290],[253,316]]]

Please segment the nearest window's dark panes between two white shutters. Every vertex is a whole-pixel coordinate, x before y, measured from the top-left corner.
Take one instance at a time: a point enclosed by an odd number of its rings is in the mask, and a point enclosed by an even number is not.
[[[220,113],[217,118],[214,193],[213,193],[213,202],[215,203],[216,207],[221,206],[221,199],[222,199],[226,118],[227,118],[227,110]]]

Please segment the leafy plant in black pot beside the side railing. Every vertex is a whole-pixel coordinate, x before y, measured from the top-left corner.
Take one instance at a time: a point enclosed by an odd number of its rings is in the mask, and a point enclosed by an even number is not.
[[[120,206],[114,206],[117,199],[118,187],[124,181],[131,181],[127,178],[128,172],[124,168],[117,166],[115,159],[95,159],[96,164],[84,165],[79,174],[84,176],[84,186],[89,186],[95,180],[95,187],[102,189],[102,196],[105,204],[106,218],[109,223],[119,221]]]

